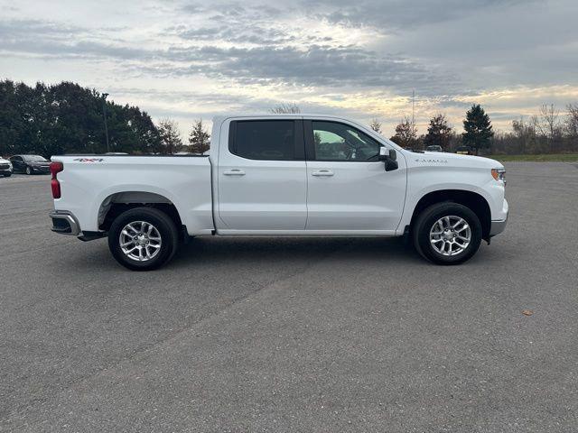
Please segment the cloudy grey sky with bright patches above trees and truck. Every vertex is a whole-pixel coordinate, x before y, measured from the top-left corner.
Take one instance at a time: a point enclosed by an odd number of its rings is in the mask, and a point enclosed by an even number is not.
[[[578,102],[578,2],[0,0],[0,78],[61,80],[176,119],[302,111],[424,132],[472,103],[498,129]]]

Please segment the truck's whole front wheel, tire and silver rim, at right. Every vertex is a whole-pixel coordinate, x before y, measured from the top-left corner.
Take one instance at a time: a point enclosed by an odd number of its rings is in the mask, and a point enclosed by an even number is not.
[[[415,220],[412,233],[417,252],[436,264],[464,263],[481,243],[480,218],[470,207],[452,202],[426,207]]]

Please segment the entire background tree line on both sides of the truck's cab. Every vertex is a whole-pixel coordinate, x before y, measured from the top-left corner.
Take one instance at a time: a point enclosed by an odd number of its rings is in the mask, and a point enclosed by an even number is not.
[[[193,122],[187,143],[183,143],[179,126],[171,119],[154,124],[138,106],[118,105],[106,97],[93,88],[68,81],[50,86],[39,82],[33,87],[8,79],[0,81],[0,156],[209,150],[210,134],[202,119]],[[391,140],[412,149],[439,145],[449,152],[461,145],[470,146],[476,153],[578,152],[578,104],[566,108],[565,115],[561,115],[554,105],[540,106],[536,115],[514,120],[510,131],[499,133],[493,131],[489,115],[480,105],[471,106],[466,113],[461,134],[443,113],[433,115],[427,133],[421,135],[415,123],[405,116],[396,125]],[[270,111],[301,112],[294,103],[275,106]],[[378,119],[370,124],[379,133],[381,125]]]

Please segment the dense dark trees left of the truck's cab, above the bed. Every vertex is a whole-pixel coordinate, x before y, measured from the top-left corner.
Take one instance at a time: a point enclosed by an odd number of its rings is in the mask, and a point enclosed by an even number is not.
[[[138,106],[121,106],[106,97],[68,81],[50,86],[39,82],[33,87],[0,81],[0,155],[34,153],[48,158],[66,153],[171,154],[209,149],[210,135],[201,119],[192,124],[185,144],[172,120],[154,124]]]

